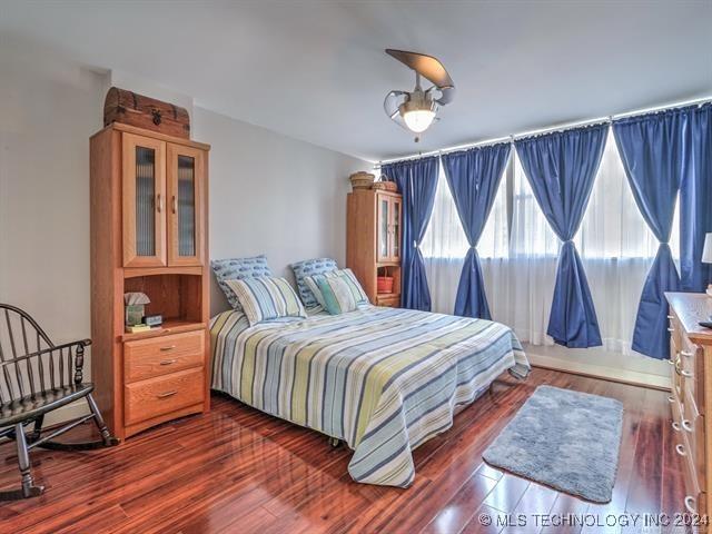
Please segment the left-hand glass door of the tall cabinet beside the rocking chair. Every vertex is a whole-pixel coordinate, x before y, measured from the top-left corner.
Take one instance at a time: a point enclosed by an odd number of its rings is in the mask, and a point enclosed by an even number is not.
[[[166,144],[122,135],[123,266],[166,265]]]

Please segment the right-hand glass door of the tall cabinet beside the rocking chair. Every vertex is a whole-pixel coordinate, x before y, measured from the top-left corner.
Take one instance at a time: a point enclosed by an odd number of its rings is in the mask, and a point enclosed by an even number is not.
[[[202,264],[202,150],[168,144],[168,265]]]

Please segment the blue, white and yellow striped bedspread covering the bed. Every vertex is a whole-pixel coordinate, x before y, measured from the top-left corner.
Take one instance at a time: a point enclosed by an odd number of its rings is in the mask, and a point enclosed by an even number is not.
[[[530,369],[504,325],[374,306],[253,327],[225,312],[211,346],[212,388],[343,439],[355,481],[400,487],[412,451],[452,426],[456,405]]]

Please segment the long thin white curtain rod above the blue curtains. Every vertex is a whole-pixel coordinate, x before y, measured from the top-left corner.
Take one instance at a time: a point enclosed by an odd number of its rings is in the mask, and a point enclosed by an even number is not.
[[[573,128],[580,128],[582,126],[593,126],[596,123],[611,123],[616,119],[623,119],[623,118],[627,118],[627,117],[635,117],[635,116],[643,116],[643,115],[647,115],[647,113],[653,113],[655,111],[662,111],[662,110],[666,110],[666,109],[676,109],[676,108],[684,108],[686,106],[693,106],[693,105],[699,105],[702,106],[706,102],[712,102],[712,96],[710,97],[703,97],[703,98],[698,98],[694,100],[684,100],[682,102],[675,102],[675,103],[666,103],[666,105],[662,105],[662,106],[655,106],[652,108],[644,108],[644,109],[637,109],[635,111],[626,111],[624,113],[617,113],[617,115],[610,115],[607,117],[600,117],[597,119],[589,119],[589,120],[580,120],[577,122],[564,122],[557,126],[552,126],[548,128],[540,128],[536,130],[528,130],[522,134],[514,134],[514,135],[510,135],[510,136],[504,136],[504,137],[497,137],[494,139],[485,139],[482,141],[476,141],[476,142],[466,142],[463,145],[456,145],[454,147],[447,147],[447,148],[442,148],[439,150],[429,150],[427,152],[419,152],[419,154],[414,154],[411,156],[405,156],[403,158],[394,158],[394,159],[384,159],[382,161],[376,161],[374,162],[374,169],[380,169],[380,167],[385,164],[394,164],[396,161],[409,161],[413,159],[419,159],[419,158],[426,158],[428,156],[442,156],[443,154],[449,154],[449,152],[456,152],[458,150],[466,150],[469,148],[475,148],[475,147],[485,147],[485,146],[491,146],[491,145],[498,145],[501,142],[514,142],[517,139],[524,139],[527,137],[532,137],[532,136],[538,136],[542,134],[547,134],[547,132],[552,132],[552,131],[565,131],[565,130],[570,130]]]

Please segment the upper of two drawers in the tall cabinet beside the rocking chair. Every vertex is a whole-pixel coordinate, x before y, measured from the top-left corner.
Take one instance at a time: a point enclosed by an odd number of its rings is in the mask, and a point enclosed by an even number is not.
[[[123,376],[127,384],[199,367],[204,362],[205,330],[123,344]]]

